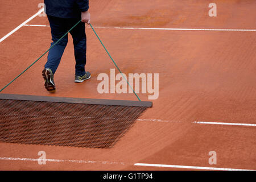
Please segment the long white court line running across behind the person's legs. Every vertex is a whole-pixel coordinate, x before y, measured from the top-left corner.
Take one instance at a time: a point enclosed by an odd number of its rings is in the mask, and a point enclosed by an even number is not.
[[[49,27],[41,24],[26,24],[32,27]],[[88,28],[90,28],[88,26]],[[123,29],[123,30],[190,30],[190,31],[256,31],[256,29],[206,29],[206,28],[135,28],[135,27],[94,27],[100,29]]]

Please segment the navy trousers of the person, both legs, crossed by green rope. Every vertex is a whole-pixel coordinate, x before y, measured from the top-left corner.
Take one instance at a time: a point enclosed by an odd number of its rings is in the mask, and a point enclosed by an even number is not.
[[[69,29],[71,29],[79,19],[76,18],[58,18],[55,16],[47,15],[52,33],[51,46],[57,42]],[[77,76],[85,75],[86,64],[86,34],[85,23],[80,22],[75,28],[70,31],[73,38],[73,44],[75,49],[75,74]],[[53,48],[49,50],[47,63],[44,68],[50,68],[53,74],[56,72],[57,67],[60,64],[61,57],[64,49],[68,43],[68,35],[60,40]]]

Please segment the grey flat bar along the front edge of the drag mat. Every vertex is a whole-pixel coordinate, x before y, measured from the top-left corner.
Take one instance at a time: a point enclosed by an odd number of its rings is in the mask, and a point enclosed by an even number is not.
[[[104,100],[104,99],[94,99],[94,98],[30,96],[30,95],[19,95],[19,94],[0,94],[0,99],[20,100],[20,101],[62,102],[62,103],[74,103],[74,104],[152,107],[152,102],[150,101]]]

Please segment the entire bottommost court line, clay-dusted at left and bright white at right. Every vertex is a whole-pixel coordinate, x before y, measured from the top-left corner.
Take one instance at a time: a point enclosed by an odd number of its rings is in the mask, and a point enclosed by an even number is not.
[[[34,161],[38,162],[39,159],[31,158],[6,158],[2,157],[0,160],[20,160],[20,161]],[[108,161],[92,161],[92,160],[64,160],[64,159],[44,159],[46,162],[68,162],[68,163],[86,163],[86,164],[128,164],[122,162],[108,162]],[[129,164],[131,165],[131,164]],[[187,169],[205,169],[205,170],[218,170],[218,171],[254,171],[251,169],[233,169],[233,168],[216,168],[216,167],[199,167],[199,166],[179,166],[179,165],[166,165],[166,164],[145,164],[133,163],[134,166],[147,166],[147,167],[169,167],[169,168],[187,168]]]

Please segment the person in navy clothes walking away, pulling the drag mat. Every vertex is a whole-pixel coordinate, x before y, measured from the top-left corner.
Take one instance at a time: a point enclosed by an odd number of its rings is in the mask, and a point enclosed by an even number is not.
[[[86,34],[85,23],[90,23],[89,0],[44,0],[46,14],[51,27],[52,43],[55,44],[79,20],[75,28],[70,31],[75,49],[75,82],[83,82],[90,78],[90,72],[85,71],[86,64]],[[47,63],[42,72],[44,86],[54,93],[55,83],[53,75],[60,64],[64,49],[68,43],[68,35],[49,50]]]

